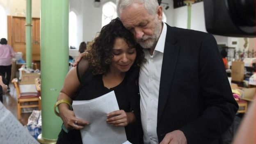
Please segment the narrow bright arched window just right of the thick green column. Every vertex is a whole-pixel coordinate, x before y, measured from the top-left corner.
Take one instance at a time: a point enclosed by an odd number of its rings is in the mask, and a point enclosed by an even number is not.
[[[77,16],[74,11],[69,12],[69,48],[77,46],[77,38],[78,38],[78,32],[77,32]]]

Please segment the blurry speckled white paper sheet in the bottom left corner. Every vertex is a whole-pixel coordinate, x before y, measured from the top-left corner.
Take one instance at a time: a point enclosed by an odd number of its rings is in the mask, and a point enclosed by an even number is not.
[[[0,143],[39,144],[28,130],[0,102]]]

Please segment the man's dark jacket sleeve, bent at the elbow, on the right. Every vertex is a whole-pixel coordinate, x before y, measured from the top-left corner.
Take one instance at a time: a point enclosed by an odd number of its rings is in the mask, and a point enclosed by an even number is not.
[[[238,104],[233,98],[217,43],[211,34],[201,42],[199,82],[206,105],[201,117],[183,126],[188,144],[218,139],[233,123]]]

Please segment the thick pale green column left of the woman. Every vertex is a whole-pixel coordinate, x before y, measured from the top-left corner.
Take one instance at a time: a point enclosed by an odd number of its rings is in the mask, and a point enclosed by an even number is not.
[[[69,70],[69,0],[41,0],[41,144],[54,143],[62,121],[53,112]]]

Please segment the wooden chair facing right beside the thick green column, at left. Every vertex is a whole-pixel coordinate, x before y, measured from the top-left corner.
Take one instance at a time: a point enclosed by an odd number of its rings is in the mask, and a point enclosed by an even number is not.
[[[17,98],[18,98],[18,106],[17,106],[18,119],[21,118],[21,109],[22,108],[38,107],[38,109],[41,110],[41,97],[37,94],[37,92],[21,93],[18,79],[14,78],[11,82],[14,84],[14,87],[16,89]],[[30,104],[30,102],[37,102],[37,104]],[[28,103],[28,105],[23,105],[24,103]]]

